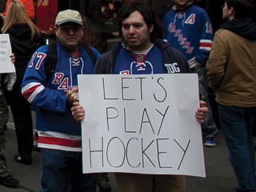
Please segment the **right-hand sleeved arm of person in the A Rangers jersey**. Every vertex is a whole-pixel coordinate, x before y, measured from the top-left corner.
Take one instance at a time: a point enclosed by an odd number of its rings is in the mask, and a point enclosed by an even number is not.
[[[202,15],[199,16],[201,22],[201,36],[199,42],[199,50],[196,53],[196,62],[205,66],[212,47],[213,30],[212,23],[207,13],[203,12]]]

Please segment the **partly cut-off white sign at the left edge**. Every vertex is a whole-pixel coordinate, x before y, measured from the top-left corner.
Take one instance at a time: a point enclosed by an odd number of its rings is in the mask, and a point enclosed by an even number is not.
[[[12,48],[9,34],[0,34],[0,73],[15,72],[15,66],[10,60]]]

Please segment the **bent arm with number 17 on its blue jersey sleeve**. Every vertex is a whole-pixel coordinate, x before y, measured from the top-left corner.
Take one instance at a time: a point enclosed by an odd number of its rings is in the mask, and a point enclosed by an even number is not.
[[[47,50],[47,46],[40,47],[32,56],[24,74],[21,92],[32,106],[48,111],[67,112],[70,108],[67,107],[65,92],[46,87],[44,62]]]

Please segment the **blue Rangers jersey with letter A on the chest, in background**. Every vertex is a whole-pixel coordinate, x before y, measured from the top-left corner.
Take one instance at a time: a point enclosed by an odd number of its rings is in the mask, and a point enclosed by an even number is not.
[[[163,17],[163,38],[185,55],[191,68],[195,61],[205,65],[213,40],[210,18],[196,5],[183,11],[170,10]]]

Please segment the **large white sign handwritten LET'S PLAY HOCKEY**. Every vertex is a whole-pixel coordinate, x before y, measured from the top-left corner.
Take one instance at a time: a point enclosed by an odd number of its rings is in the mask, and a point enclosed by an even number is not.
[[[84,173],[205,176],[197,74],[78,80]]]

